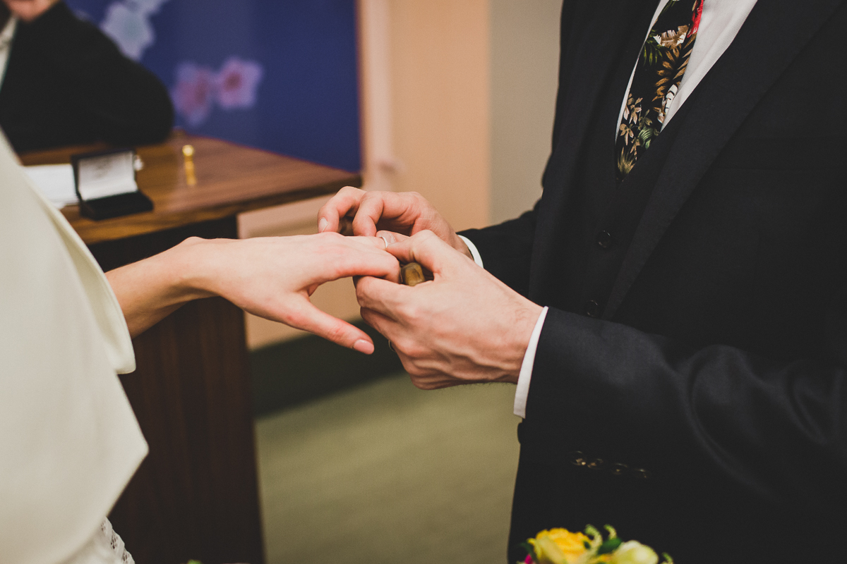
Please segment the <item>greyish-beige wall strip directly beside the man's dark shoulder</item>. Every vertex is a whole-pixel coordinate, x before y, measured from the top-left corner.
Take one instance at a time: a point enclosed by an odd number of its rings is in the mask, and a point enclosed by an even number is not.
[[[562,0],[490,0],[491,222],[529,210],[550,154]]]

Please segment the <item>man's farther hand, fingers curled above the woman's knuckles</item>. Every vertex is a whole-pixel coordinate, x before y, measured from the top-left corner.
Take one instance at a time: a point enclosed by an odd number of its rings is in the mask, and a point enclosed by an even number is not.
[[[339,232],[345,216],[353,218],[354,235],[374,237],[380,230],[414,235],[429,230],[453,249],[471,256],[450,223],[417,192],[366,192],[346,186],[318,211],[318,233]]]

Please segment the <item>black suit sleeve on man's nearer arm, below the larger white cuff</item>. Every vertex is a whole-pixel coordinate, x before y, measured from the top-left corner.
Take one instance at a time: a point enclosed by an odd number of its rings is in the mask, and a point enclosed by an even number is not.
[[[568,450],[599,450],[660,480],[717,473],[783,507],[841,505],[847,287],[827,335],[824,358],[778,362],[550,309],[523,435],[559,445],[568,437]]]

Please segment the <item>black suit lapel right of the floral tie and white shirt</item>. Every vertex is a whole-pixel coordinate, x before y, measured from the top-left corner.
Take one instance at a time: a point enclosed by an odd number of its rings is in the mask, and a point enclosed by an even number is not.
[[[747,115],[844,0],[762,2],[686,105],[606,303],[611,319],[685,200]],[[661,137],[661,135],[660,135]]]

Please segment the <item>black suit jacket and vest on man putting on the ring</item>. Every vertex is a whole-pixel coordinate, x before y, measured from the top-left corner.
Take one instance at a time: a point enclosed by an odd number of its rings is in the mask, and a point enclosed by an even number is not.
[[[509,560],[610,523],[678,562],[847,561],[847,3],[760,0],[610,186],[655,7],[565,1],[544,193],[464,233],[551,306]]]

